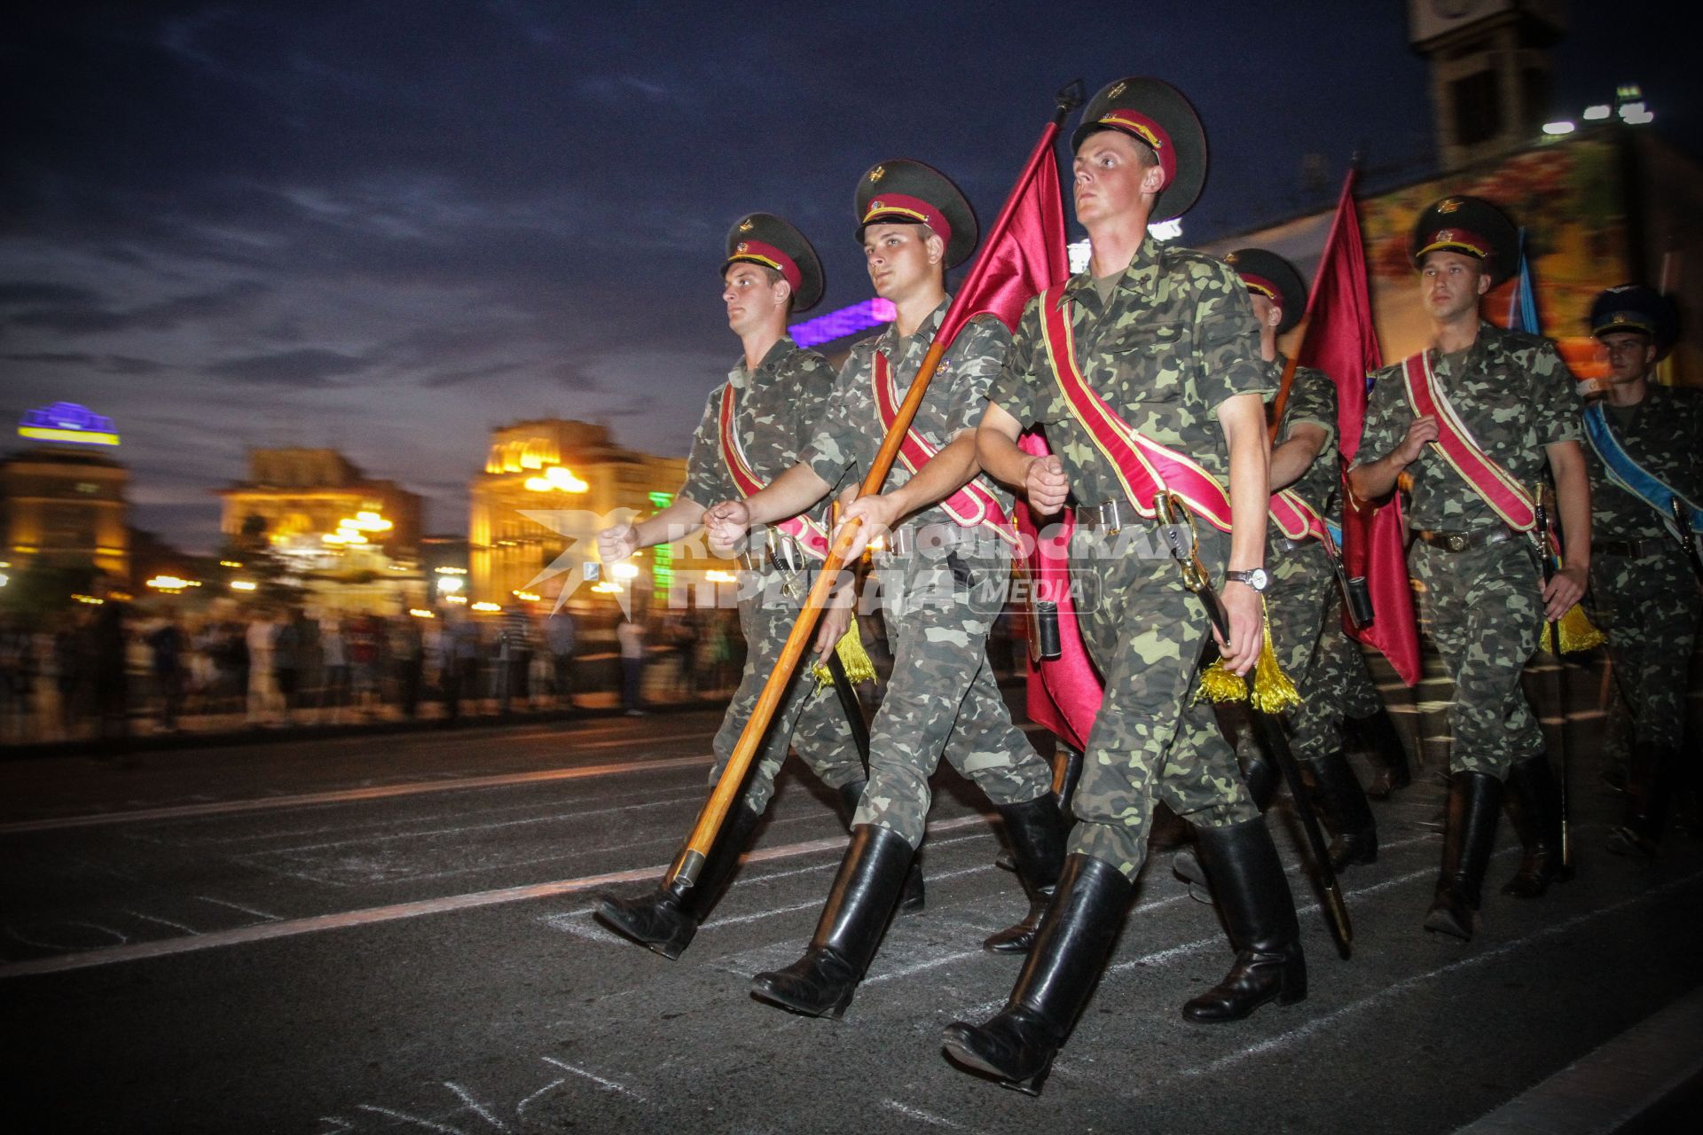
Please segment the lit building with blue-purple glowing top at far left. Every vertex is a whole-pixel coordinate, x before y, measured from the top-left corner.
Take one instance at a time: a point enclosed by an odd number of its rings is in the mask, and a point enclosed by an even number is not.
[[[112,419],[60,402],[19,422],[32,448],[0,461],[0,531],[17,573],[31,560],[129,579],[129,470],[107,456]]]

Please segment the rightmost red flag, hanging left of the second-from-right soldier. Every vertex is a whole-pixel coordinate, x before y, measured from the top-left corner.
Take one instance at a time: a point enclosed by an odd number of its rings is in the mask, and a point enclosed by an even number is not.
[[[1296,352],[1303,366],[1330,374],[1337,385],[1337,437],[1344,468],[1361,448],[1366,376],[1383,366],[1378,334],[1373,330],[1366,248],[1354,211],[1356,177],[1357,170],[1349,170],[1342,182],[1337,218],[1330,223],[1330,237],[1306,305],[1306,339]],[[1413,686],[1420,677],[1419,623],[1413,618],[1413,589],[1407,582],[1400,495],[1393,493],[1378,507],[1356,507],[1354,495],[1344,483],[1342,499],[1342,565],[1349,575],[1366,577],[1373,609],[1378,613],[1371,626],[1349,626],[1349,633],[1381,650],[1402,681]],[[1347,619],[1344,625],[1347,626]]]

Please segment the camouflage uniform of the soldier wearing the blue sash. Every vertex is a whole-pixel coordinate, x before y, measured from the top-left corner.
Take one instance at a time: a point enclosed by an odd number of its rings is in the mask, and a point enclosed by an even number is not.
[[[1689,500],[1703,499],[1703,398],[1649,383],[1642,402],[1603,407],[1614,439],[1645,470]],[[1643,500],[1608,480],[1585,446],[1591,475],[1591,616],[1608,635],[1614,682],[1631,710],[1637,740],[1679,749],[1686,723],[1691,648],[1696,643],[1696,575],[1686,553]],[[1640,556],[1616,543],[1654,541]]]

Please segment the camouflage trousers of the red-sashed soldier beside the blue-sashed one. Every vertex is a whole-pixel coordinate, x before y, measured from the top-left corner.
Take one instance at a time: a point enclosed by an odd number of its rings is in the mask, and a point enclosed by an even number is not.
[[[1507,779],[1509,767],[1543,752],[1543,730],[1519,684],[1543,626],[1536,556],[1524,536],[1466,551],[1415,541],[1408,568],[1424,587],[1420,613],[1454,682],[1449,771]]]

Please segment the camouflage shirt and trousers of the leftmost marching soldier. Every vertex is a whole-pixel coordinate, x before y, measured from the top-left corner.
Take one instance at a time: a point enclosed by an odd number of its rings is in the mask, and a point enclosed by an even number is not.
[[[756,374],[744,361],[727,373],[727,385],[736,391],[734,429],[744,448],[751,471],[765,482],[780,476],[797,459],[799,444],[828,403],[834,373],[823,356],[800,351],[792,339],[782,339],[758,364]],[[717,386],[703,408],[703,420],[691,437],[691,456],[686,458],[686,483],[679,495],[698,504],[737,500],[739,490],[727,473],[720,442],[722,386]],[[838,480],[838,478],[836,478]],[[739,589],[739,630],[746,640],[744,674],[715,732],[715,767],[710,784],[720,779],[739,735],[756,706],[763,682],[780,659],[780,648],[797,619],[794,604],[773,602],[777,589],[760,587],[768,580],[746,577]],[[770,602],[765,602],[768,599]],[[807,667],[794,676],[787,698],[775,715],[763,747],[753,761],[746,803],[761,813],[775,793],[775,774],[787,759],[788,744],[811,771],[829,788],[840,788],[863,778],[863,766],[852,742],[852,728],[831,689],[817,689]]]

